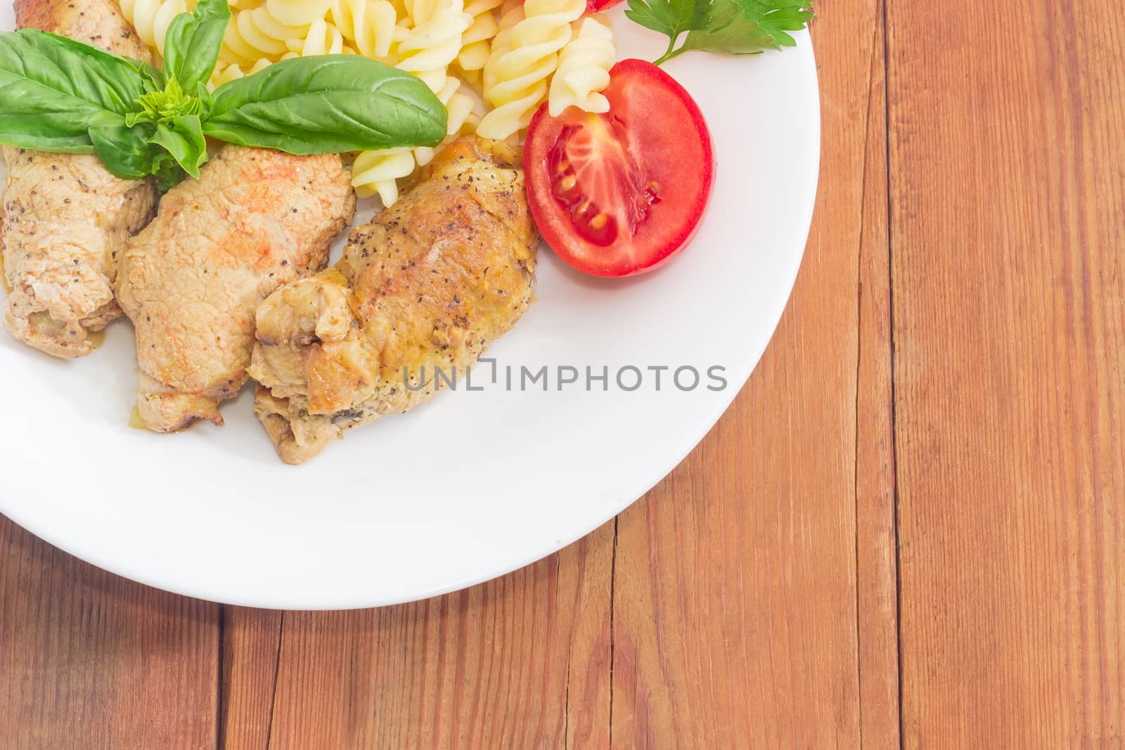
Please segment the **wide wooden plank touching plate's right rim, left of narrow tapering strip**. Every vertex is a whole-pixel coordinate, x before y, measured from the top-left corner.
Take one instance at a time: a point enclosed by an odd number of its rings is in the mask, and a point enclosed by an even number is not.
[[[866,385],[857,371],[878,370],[879,333],[865,331],[873,349],[861,363],[857,291],[861,244],[865,238],[871,254],[879,249],[879,217],[865,216],[864,199],[876,213],[885,204],[874,187],[865,196],[861,179],[865,169],[876,172],[873,186],[880,179],[880,154],[865,156],[878,151],[871,133],[883,121],[871,99],[882,87],[872,74],[882,61],[878,8],[855,0],[818,9],[824,179],[800,278],[770,350],[702,445],[620,518],[614,746],[861,743],[855,443],[857,388]],[[865,277],[878,272],[876,260],[868,265]],[[871,325],[878,300],[867,298]],[[865,397],[865,426],[875,424],[876,406],[878,397]],[[867,470],[876,457],[864,460]],[[890,481],[889,472],[880,477]],[[862,497],[883,504],[885,517],[886,486],[865,481]],[[888,627],[893,622],[864,625]],[[897,669],[884,659],[864,667]],[[890,732],[888,716],[885,706],[873,713],[871,731]]]

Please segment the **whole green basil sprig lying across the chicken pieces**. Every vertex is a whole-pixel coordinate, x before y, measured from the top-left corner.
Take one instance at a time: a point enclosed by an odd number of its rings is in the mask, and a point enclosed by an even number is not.
[[[0,143],[97,154],[161,188],[199,177],[210,136],[290,154],[432,146],[446,108],[418,78],[354,55],[282,61],[207,90],[231,9],[173,19],[164,70],[63,36],[0,33]]]

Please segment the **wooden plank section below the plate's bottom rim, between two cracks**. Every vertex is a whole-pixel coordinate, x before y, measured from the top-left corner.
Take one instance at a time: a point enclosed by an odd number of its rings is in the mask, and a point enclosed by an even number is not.
[[[465,591],[287,612],[270,750],[603,748],[613,524]]]

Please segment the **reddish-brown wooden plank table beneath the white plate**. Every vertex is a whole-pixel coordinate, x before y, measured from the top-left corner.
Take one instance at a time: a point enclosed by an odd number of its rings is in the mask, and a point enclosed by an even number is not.
[[[1125,17],[818,7],[804,264],[678,469],[530,568],[346,613],[0,519],[0,748],[1125,747]]]

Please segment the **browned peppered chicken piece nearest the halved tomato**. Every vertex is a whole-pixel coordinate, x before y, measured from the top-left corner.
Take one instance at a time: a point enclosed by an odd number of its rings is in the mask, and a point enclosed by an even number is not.
[[[448,146],[422,182],[352,232],[335,268],[258,308],[254,410],[282,461],[429,399],[435,367],[471,364],[528,308],[538,237],[523,172],[488,147]]]

